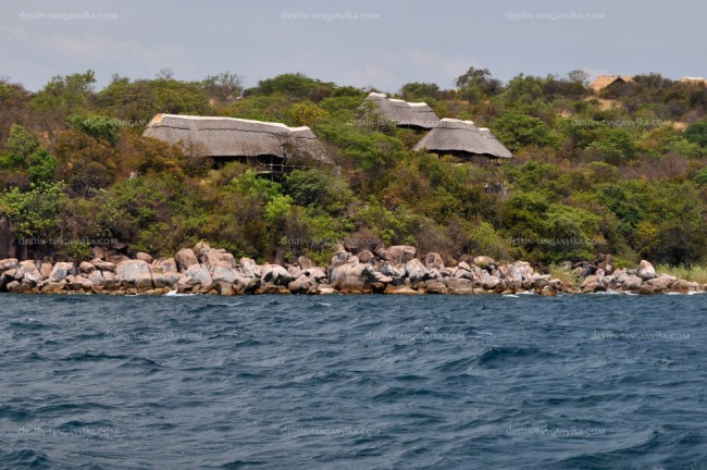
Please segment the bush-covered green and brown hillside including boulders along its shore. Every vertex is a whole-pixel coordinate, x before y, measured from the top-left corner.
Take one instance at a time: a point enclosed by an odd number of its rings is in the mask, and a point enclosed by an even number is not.
[[[87,71],[37,91],[0,78],[0,289],[174,290],[186,275],[191,290],[212,292],[215,279],[231,283],[218,286],[225,293],[337,283],[335,292],[700,290],[706,82],[600,78],[572,71],[501,83],[471,67],[454,89],[414,82],[394,94],[298,73],[251,88],[232,72],[115,74],[98,89]],[[371,96],[483,129],[512,158],[421,149],[439,127],[394,123]],[[325,158],[285,139],[266,162],[233,160],[145,135],[158,115],[236,119],[240,131],[252,121],[306,126]],[[221,253],[225,277],[195,248],[201,268],[175,267],[201,240],[222,249],[209,252]],[[395,247],[407,255],[388,259]],[[499,262],[474,261],[487,257]],[[638,274],[646,260],[657,280]],[[307,270],[311,282],[300,280]]]

